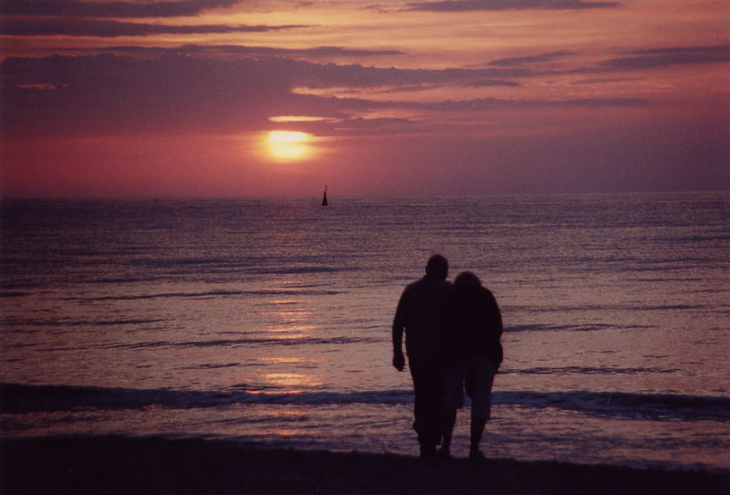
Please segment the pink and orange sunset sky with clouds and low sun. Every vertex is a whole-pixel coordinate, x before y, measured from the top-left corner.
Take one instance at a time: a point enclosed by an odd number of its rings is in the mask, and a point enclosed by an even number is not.
[[[0,11],[3,197],[730,189],[727,0]]]

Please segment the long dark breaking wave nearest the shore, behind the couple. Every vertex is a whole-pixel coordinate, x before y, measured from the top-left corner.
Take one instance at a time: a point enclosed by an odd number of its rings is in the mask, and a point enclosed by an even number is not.
[[[67,385],[0,384],[3,414],[77,409],[141,409],[151,406],[206,408],[230,405],[401,405],[413,402],[410,390],[280,393],[274,386],[239,385],[234,390],[139,390]],[[493,394],[495,405],[555,408],[589,416],[650,420],[730,422],[730,397],[610,392],[516,392]]]

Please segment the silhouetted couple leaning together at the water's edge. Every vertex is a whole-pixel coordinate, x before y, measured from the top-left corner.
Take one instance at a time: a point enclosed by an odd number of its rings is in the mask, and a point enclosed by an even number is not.
[[[433,255],[425,276],[401,294],[392,329],[393,366],[405,357],[415,393],[413,428],[421,457],[451,456],[456,409],[464,406],[464,387],[472,398],[469,458],[484,458],[479,443],[490,416],[492,383],[502,363],[502,317],[492,293],[474,273],[446,280],[446,258]]]

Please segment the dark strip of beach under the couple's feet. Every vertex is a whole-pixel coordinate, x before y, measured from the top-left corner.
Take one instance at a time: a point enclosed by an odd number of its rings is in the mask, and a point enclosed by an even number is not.
[[[0,441],[0,493],[730,493],[730,473],[549,461],[422,462],[394,454],[255,448],[223,440]]]

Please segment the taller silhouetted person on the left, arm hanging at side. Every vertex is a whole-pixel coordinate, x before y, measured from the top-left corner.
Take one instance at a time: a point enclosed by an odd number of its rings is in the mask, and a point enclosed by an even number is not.
[[[451,289],[451,283],[446,281],[448,271],[446,258],[441,255],[429,258],[425,276],[403,290],[393,319],[393,366],[398,371],[405,366],[401,347],[405,331],[415,395],[413,429],[418,433],[421,458],[435,457],[436,446],[441,441],[444,367],[439,338],[443,308]]]

